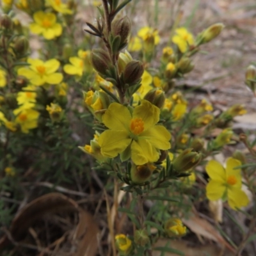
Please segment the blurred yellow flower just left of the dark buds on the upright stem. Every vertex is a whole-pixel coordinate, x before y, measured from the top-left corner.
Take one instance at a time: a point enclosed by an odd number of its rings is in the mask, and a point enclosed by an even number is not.
[[[69,75],[83,76],[83,72],[92,71],[92,65],[90,64],[90,51],[78,51],[78,57],[70,57],[71,64],[64,66],[64,71]]]

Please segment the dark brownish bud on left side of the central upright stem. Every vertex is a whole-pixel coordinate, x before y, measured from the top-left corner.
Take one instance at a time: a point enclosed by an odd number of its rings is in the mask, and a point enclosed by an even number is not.
[[[106,76],[106,70],[112,65],[111,58],[107,51],[103,49],[93,49],[91,52],[91,62],[93,68],[99,72],[100,75]]]

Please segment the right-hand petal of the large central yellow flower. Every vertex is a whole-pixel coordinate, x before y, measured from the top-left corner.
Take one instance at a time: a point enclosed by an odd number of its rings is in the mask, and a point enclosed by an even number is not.
[[[140,134],[141,138],[145,138],[148,142],[156,148],[168,150],[170,145],[171,134],[162,125],[155,125],[147,129],[147,131]]]

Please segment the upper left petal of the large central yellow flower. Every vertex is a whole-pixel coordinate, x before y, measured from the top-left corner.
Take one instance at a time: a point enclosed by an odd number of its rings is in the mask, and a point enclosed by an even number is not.
[[[105,114],[102,116],[102,122],[106,127],[113,130],[126,130],[129,132],[131,113],[127,107],[119,103],[111,103]]]

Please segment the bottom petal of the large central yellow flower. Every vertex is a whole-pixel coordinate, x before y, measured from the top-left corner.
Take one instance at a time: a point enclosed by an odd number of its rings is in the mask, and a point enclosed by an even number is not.
[[[153,163],[159,159],[159,152],[147,140],[139,139],[131,143],[131,159],[136,165]]]

